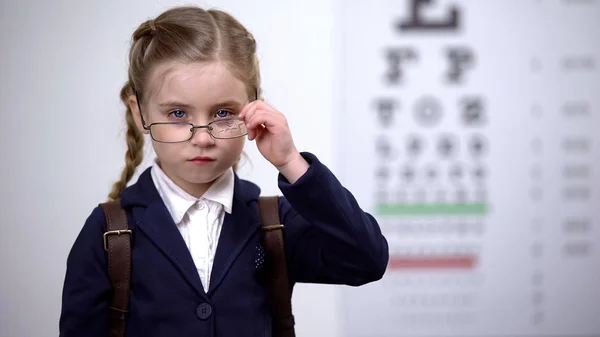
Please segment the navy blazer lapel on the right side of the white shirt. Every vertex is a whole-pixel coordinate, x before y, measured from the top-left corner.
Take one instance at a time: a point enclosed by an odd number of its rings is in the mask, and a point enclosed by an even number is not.
[[[238,198],[234,197],[232,210],[231,214],[225,214],[223,220],[223,228],[210,277],[209,296],[223,281],[227,271],[248,240],[260,229],[260,221],[256,213],[252,212]]]

